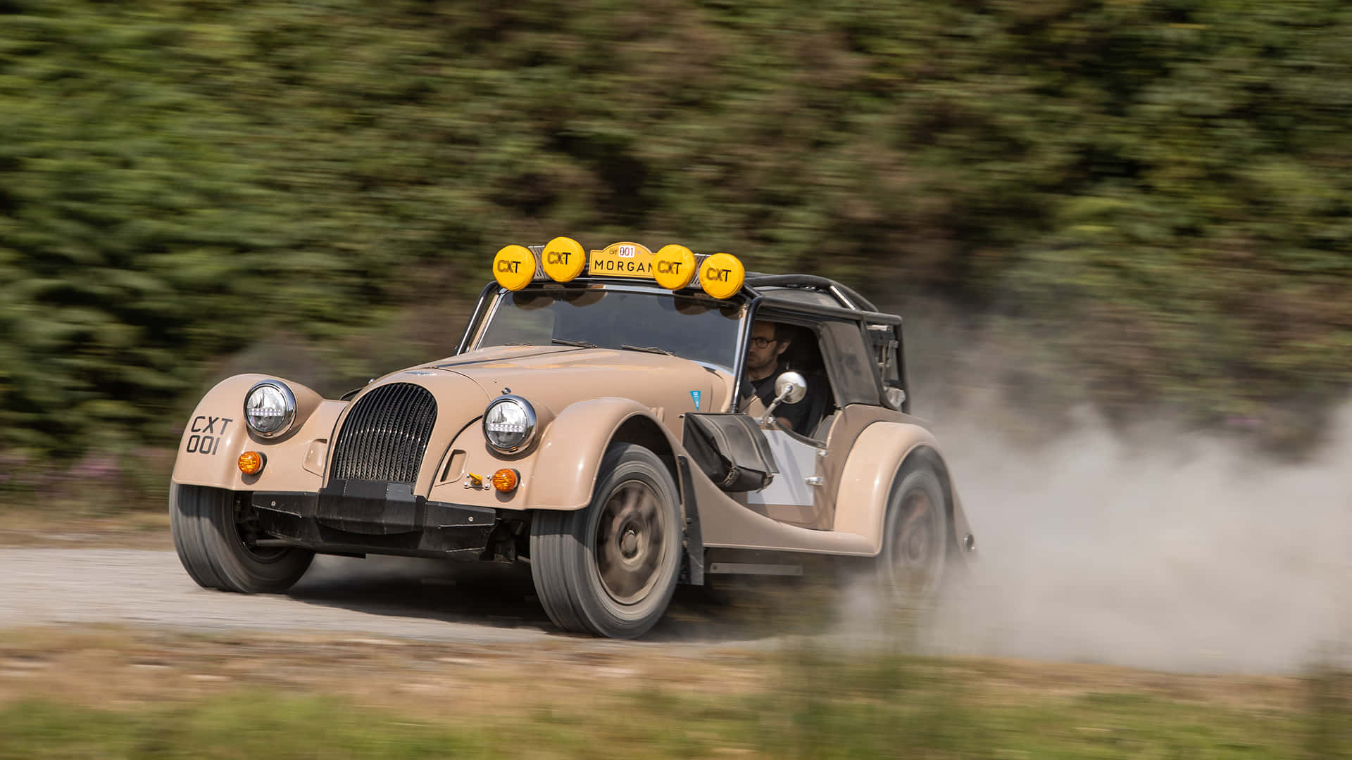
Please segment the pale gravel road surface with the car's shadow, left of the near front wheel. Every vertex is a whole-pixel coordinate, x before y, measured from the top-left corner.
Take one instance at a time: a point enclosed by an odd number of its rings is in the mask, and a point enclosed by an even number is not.
[[[342,630],[477,644],[557,637],[521,569],[318,557],[289,594],[246,596],[197,587],[173,552],[0,549],[0,627]]]

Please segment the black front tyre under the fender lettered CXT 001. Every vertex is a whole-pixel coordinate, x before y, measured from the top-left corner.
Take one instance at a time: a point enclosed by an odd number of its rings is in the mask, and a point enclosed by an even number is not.
[[[310,568],[306,549],[258,549],[245,544],[234,494],[200,485],[169,487],[173,546],[188,575],[203,588],[241,594],[281,594]]]

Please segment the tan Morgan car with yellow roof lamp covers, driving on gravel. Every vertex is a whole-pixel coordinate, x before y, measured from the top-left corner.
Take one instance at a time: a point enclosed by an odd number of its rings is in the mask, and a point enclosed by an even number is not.
[[[281,592],[315,553],[529,563],[558,627],[630,638],[713,573],[860,557],[926,599],[973,552],[899,316],[679,245],[556,238],[492,268],[454,356],[342,399],[269,375],[207,392],[169,498],[193,580]]]

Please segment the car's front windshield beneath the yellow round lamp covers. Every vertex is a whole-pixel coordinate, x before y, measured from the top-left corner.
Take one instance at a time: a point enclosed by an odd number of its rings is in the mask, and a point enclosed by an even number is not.
[[[658,349],[731,368],[742,308],[661,292],[549,288],[498,299],[479,348],[584,345]]]

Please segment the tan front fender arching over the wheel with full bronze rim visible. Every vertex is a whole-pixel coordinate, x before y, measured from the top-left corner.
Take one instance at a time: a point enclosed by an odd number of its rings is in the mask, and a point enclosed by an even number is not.
[[[645,417],[662,431],[668,446],[680,450],[653,411],[644,404],[615,396],[588,399],[564,408],[549,426],[526,492],[526,506],[541,510],[580,510],[591,503],[600,460],[621,425]],[[661,453],[661,452],[658,452]]]

